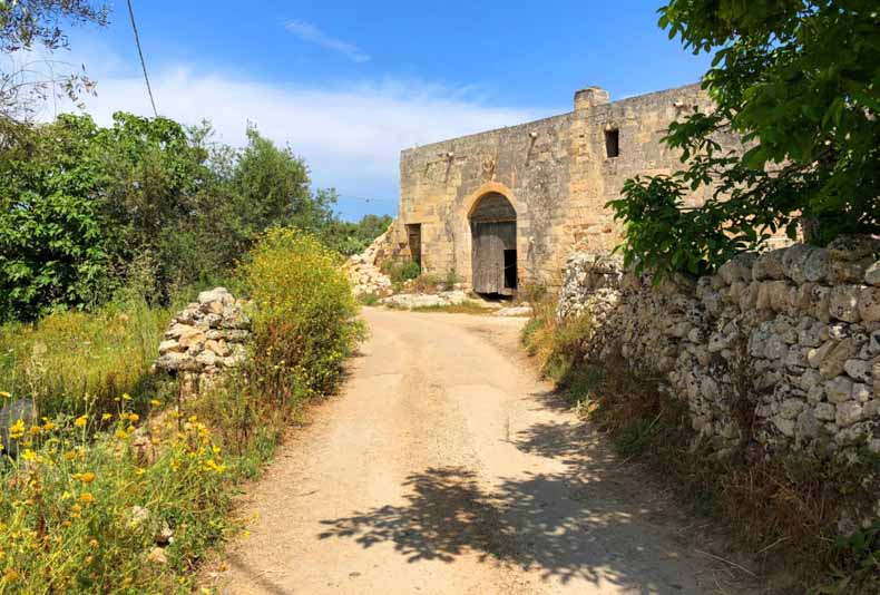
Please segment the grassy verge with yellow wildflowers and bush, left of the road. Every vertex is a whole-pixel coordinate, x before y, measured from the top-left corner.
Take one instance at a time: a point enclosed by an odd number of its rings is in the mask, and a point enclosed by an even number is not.
[[[311,237],[271,232],[242,277],[256,304],[250,363],[179,409],[175,384],[147,374],[166,310],[3,328],[0,400],[33,397],[40,416],[3,428],[0,593],[193,589],[206,550],[236,530],[236,486],[334,389],[363,336],[338,257]]]

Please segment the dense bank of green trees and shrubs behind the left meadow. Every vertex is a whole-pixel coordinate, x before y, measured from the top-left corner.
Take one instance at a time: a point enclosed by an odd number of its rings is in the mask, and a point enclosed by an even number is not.
[[[94,309],[140,274],[151,303],[223,275],[273,225],[331,247],[372,241],[381,218],[343,224],[333,191],[254,127],[242,150],[209,126],[116,114],[101,128],[60,116],[0,152],[0,321]],[[382,230],[384,231],[384,230]]]

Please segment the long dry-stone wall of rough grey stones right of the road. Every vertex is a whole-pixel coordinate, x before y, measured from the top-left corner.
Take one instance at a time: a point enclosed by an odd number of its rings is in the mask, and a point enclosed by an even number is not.
[[[557,314],[591,318],[590,358],[659,372],[718,449],[750,438],[765,450],[880,451],[879,254],[876,237],[842,237],[655,285],[619,259],[581,253]]]

